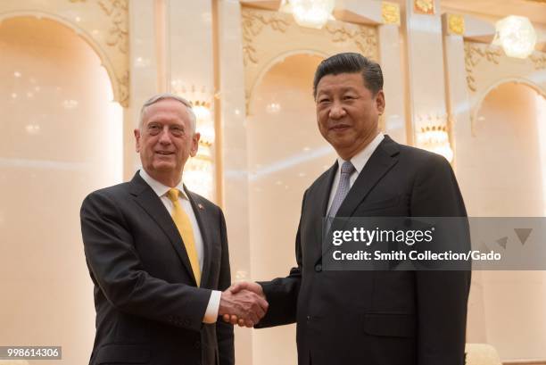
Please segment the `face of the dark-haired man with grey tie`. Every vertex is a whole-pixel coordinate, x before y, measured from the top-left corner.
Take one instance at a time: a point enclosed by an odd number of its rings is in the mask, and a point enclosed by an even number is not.
[[[316,103],[320,134],[343,160],[376,137],[379,115],[385,111],[383,90],[372,95],[360,72],[324,76],[318,81]]]

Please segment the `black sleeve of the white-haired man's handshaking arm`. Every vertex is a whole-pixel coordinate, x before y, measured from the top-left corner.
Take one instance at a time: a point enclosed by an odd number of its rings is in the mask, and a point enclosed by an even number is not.
[[[148,274],[111,195],[101,191],[88,195],[80,219],[91,276],[115,308],[179,328],[202,328],[211,290],[169,283]]]

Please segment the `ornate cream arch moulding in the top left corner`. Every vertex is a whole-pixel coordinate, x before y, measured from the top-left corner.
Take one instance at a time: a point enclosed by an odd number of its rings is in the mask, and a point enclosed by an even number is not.
[[[114,100],[128,107],[128,0],[48,0],[23,6],[18,0],[0,2],[0,21],[35,16],[73,29],[98,54],[112,81]]]

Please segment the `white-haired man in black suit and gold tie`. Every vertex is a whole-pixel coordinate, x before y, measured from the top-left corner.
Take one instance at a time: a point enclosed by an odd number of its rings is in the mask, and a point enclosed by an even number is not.
[[[143,169],[127,183],[88,195],[81,207],[95,284],[89,363],[234,364],[233,327],[218,316],[237,312],[252,325],[267,302],[226,290],[224,216],[182,182],[200,137],[191,104],[177,95],[154,96],[142,108],[135,137]]]

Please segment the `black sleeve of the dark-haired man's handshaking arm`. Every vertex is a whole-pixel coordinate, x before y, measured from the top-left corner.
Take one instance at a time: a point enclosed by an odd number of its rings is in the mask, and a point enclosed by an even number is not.
[[[306,194],[303,195],[302,212]],[[295,239],[295,256],[298,266],[292,268],[287,277],[258,283],[266,295],[269,309],[256,328],[282,326],[296,321],[298,294],[302,284],[302,218]]]

